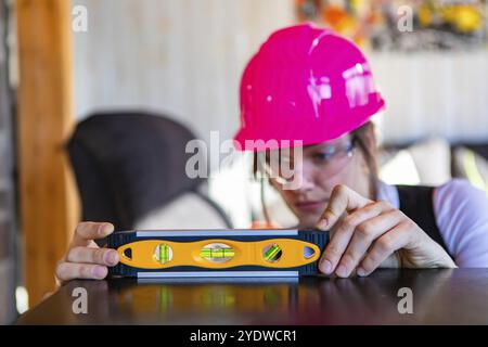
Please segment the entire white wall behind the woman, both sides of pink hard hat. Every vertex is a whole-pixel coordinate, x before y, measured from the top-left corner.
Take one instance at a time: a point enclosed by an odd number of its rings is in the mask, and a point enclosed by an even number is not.
[[[208,140],[237,127],[248,57],[294,23],[293,0],[73,0],[88,9],[75,35],[76,114],[144,107]],[[488,140],[488,51],[368,53],[386,101],[385,141],[428,134]]]

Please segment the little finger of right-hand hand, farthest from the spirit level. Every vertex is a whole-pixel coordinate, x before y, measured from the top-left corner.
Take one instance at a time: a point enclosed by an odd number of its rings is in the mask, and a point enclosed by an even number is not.
[[[407,221],[400,222],[383,236],[377,239],[367,256],[360,262],[358,275],[368,275],[396,250],[403,248],[410,241],[410,229]]]

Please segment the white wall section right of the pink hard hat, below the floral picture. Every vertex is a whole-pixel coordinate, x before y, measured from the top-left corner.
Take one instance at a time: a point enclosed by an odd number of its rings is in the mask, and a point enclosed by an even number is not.
[[[385,141],[488,142],[488,50],[368,56],[386,100]]]

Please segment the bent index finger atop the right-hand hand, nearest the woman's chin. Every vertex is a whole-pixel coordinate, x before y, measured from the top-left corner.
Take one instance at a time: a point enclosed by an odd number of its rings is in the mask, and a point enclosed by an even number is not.
[[[343,216],[345,211],[351,211],[372,203],[346,185],[338,184],[334,188],[329,200],[328,207],[322,213],[317,227],[329,230]]]

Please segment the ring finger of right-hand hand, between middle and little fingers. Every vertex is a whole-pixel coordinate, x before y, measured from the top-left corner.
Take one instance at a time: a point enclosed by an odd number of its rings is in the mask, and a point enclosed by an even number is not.
[[[401,219],[402,216],[396,210],[390,210],[359,223],[346,252],[341,258],[336,274],[342,278],[349,277],[361,259],[364,258],[374,240],[400,223]]]

